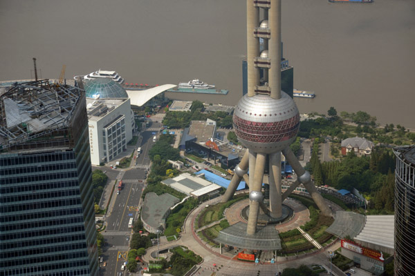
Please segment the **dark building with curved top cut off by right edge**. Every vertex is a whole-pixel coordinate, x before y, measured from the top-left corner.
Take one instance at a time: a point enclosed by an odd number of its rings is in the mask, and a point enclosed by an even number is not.
[[[395,275],[415,275],[415,146],[394,148]]]

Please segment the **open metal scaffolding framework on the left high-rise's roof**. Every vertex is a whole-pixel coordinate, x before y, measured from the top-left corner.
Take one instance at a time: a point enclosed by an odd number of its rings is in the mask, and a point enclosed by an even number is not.
[[[59,133],[70,125],[82,90],[48,79],[13,83],[0,96],[0,149]],[[32,147],[33,148],[33,147]]]

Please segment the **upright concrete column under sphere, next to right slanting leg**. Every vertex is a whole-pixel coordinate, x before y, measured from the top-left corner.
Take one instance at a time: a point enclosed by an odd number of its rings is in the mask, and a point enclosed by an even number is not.
[[[281,152],[274,152],[270,154],[270,177],[268,179],[270,179],[271,217],[281,217]]]

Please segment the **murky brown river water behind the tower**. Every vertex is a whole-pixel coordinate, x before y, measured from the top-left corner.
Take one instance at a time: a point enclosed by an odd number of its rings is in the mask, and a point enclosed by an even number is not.
[[[300,112],[364,110],[415,128],[415,1],[371,4],[283,0],[284,57]],[[226,96],[179,95],[229,105],[242,95],[243,0],[0,0],[0,80],[116,70],[126,82],[199,78]],[[169,95],[167,95],[169,96]]]

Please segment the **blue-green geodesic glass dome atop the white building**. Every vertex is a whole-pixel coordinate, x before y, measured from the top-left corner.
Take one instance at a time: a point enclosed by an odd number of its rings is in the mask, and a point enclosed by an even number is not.
[[[98,95],[100,99],[128,98],[120,83],[108,78],[86,80],[84,88],[87,98],[96,98]]]

